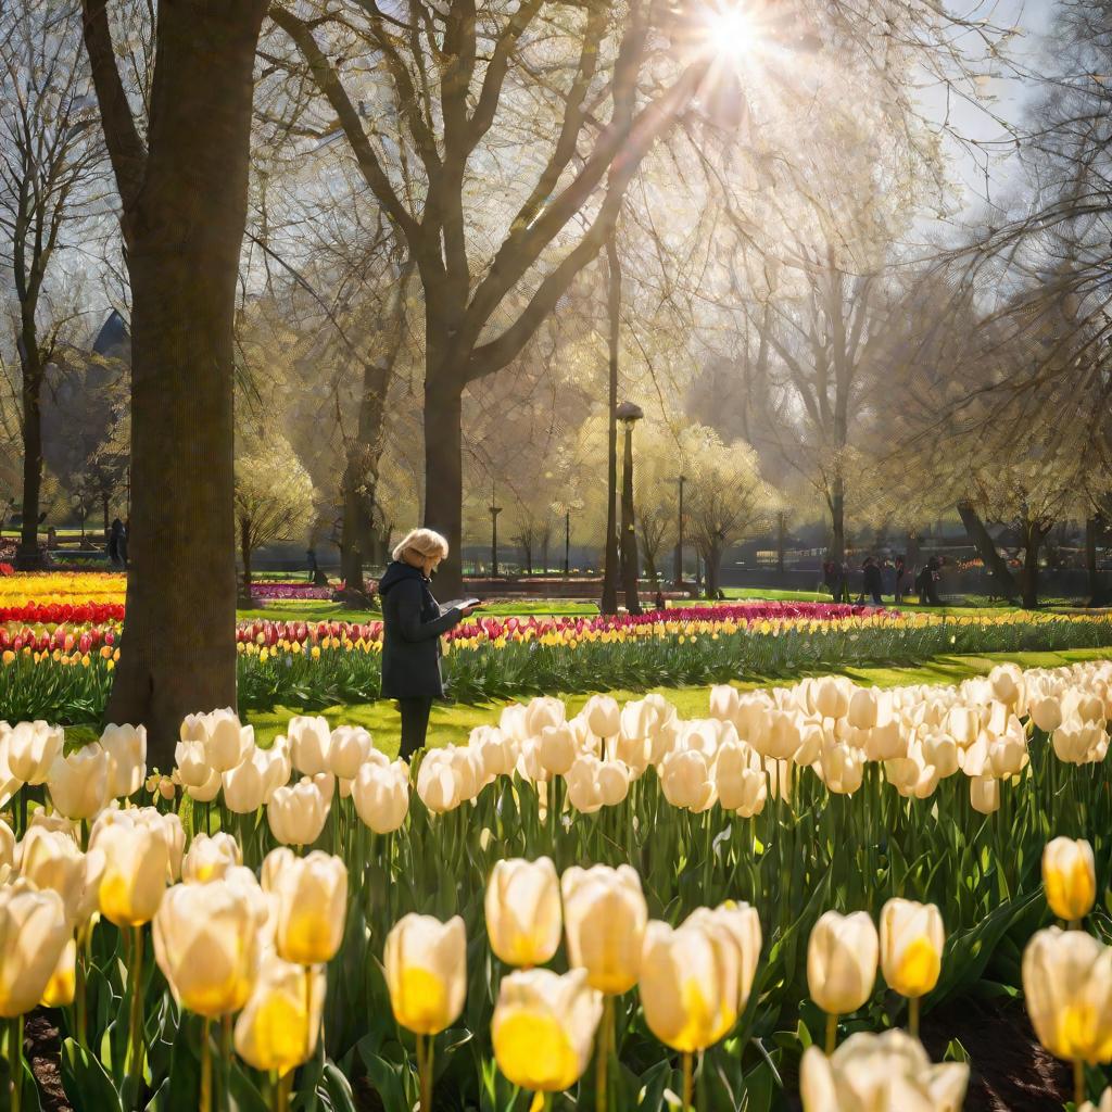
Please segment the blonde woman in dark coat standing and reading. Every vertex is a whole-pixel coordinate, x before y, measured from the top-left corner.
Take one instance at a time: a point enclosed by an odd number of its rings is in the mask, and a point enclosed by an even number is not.
[[[440,609],[429,589],[448,542],[431,529],[414,529],[394,549],[378,584],[383,599],[383,698],[401,712],[400,756],[408,761],[425,745],[433,699],[444,697],[440,635],[471,613]]]

